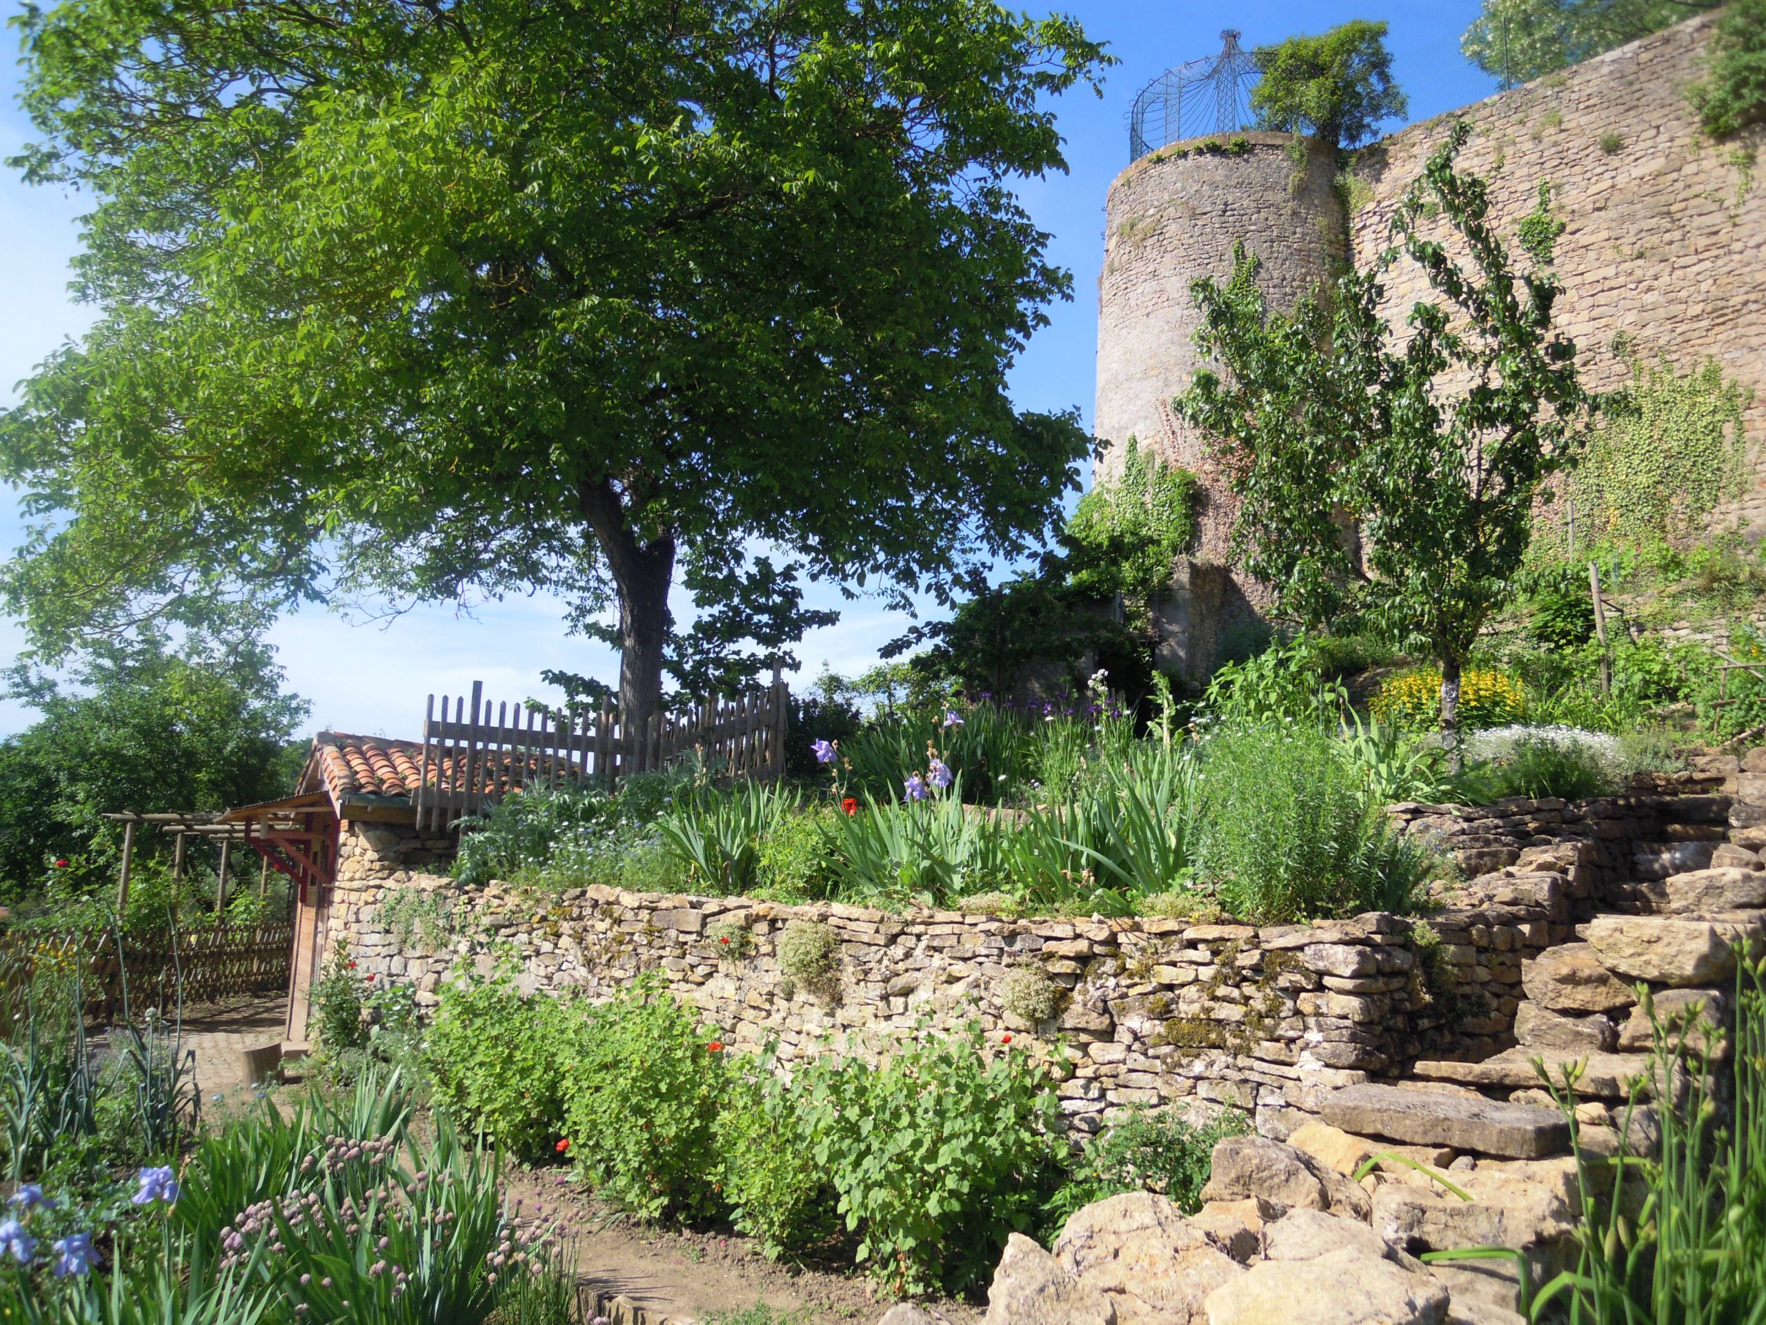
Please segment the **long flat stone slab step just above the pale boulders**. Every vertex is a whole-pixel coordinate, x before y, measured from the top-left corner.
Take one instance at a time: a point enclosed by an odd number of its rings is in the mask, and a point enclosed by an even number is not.
[[[1323,1115],[1346,1132],[1503,1159],[1543,1159],[1570,1148],[1570,1125],[1556,1109],[1476,1095],[1365,1083],[1333,1090],[1323,1101]]]

